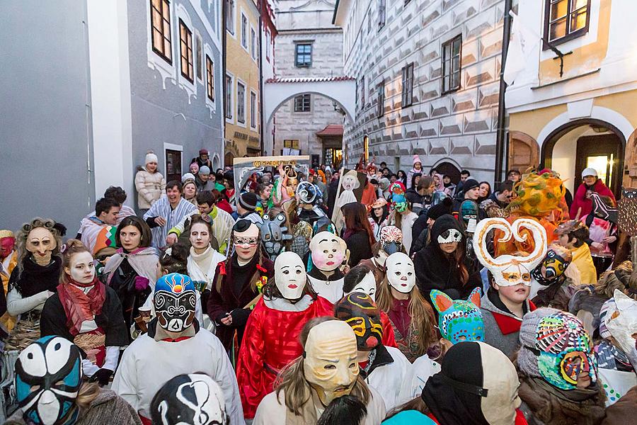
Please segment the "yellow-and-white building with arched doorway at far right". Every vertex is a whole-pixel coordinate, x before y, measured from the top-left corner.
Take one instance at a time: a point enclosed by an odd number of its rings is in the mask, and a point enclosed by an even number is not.
[[[637,186],[637,1],[520,0],[518,16],[544,42],[507,89],[508,168],[554,169],[573,194],[587,167],[616,196]]]

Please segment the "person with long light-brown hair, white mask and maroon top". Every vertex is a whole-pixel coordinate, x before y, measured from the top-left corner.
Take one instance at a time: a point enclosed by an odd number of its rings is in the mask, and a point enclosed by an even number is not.
[[[378,293],[378,306],[394,324],[398,348],[413,363],[435,342],[433,311],[415,285],[413,261],[396,252],[385,262],[386,278]]]

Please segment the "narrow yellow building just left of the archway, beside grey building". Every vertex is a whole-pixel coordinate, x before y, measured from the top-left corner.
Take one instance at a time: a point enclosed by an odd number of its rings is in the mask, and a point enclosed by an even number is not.
[[[225,0],[225,164],[258,156],[260,142],[259,9],[255,0]]]

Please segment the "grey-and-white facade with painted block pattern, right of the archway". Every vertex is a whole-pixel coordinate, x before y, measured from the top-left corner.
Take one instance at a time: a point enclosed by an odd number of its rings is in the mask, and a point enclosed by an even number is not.
[[[503,0],[339,0],[345,74],[356,78],[346,162],[408,171],[418,154],[452,180],[493,181]]]

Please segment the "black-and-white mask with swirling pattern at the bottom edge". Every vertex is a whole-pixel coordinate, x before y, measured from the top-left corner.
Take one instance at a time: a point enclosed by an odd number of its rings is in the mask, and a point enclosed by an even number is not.
[[[153,398],[151,419],[157,425],[226,425],[224,393],[208,375],[178,375]]]

